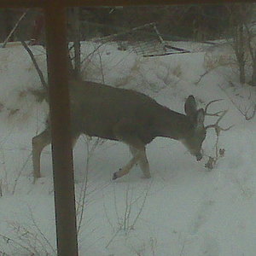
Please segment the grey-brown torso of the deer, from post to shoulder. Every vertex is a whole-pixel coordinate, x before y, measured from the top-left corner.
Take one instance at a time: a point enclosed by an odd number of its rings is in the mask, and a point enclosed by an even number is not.
[[[126,122],[130,132],[137,133],[144,143],[154,138],[154,116],[162,107],[152,98],[92,82],[72,82],[70,92],[73,130],[77,133],[115,140],[114,127]]]

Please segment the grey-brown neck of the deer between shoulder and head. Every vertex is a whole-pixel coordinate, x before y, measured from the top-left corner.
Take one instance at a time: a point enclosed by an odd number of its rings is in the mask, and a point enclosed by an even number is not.
[[[181,140],[193,133],[193,125],[189,118],[169,108],[161,108],[156,119],[158,137],[170,137],[175,140]]]

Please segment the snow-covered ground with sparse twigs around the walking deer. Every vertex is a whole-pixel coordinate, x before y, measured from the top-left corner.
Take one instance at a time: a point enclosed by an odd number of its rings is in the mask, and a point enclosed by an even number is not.
[[[209,171],[207,157],[196,162],[181,143],[159,137],[147,148],[151,179],[136,166],[112,181],[131,158],[128,148],[80,137],[73,154],[82,256],[256,255],[256,118],[241,114],[250,115],[255,90],[238,83],[227,45],[179,45],[194,52],[143,58],[84,43],[84,79],[143,91],[181,113],[190,94],[201,108],[224,99],[209,108],[229,109],[219,125],[234,125],[219,136],[224,157]],[[44,49],[32,50],[45,73]],[[43,177],[32,183],[31,139],[44,129],[48,106],[32,95],[40,82],[21,46],[0,49],[0,73],[0,255],[55,255],[50,147]],[[205,154],[214,156],[215,142],[209,130]]]

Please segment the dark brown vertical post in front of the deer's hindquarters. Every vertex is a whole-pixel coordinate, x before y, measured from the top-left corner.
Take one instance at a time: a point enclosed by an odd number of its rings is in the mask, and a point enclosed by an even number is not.
[[[49,73],[49,113],[55,186],[58,256],[77,256],[70,102],[67,68],[67,10],[61,0],[44,9]]]

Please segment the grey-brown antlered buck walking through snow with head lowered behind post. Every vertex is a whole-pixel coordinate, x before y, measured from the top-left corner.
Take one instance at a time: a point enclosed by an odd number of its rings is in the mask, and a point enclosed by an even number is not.
[[[150,177],[145,146],[155,137],[169,137],[182,142],[189,152],[201,160],[201,144],[207,128],[218,127],[218,123],[204,126],[205,110],[197,109],[194,96],[184,104],[186,114],[177,113],[161,106],[149,96],[134,90],[113,88],[92,82],[70,82],[71,121],[73,145],[81,134],[101,137],[126,143],[131,160],[113,179],[130,172],[139,164],[144,177]],[[208,105],[207,105],[208,107]],[[215,113],[218,115],[219,113]],[[51,142],[50,124],[32,138],[33,175],[40,177],[40,154]]]

